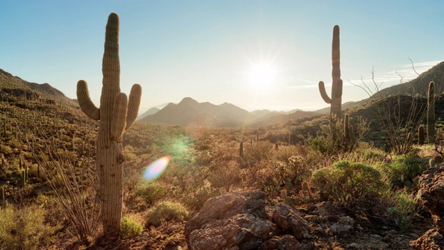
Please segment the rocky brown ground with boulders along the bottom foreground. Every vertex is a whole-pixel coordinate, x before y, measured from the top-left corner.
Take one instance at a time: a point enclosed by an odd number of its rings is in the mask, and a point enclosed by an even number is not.
[[[90,249],[444,249],[444,164],[427,169],[418,195],[430,214],[410,231],[353,215],[324,201],[303,206],[266,203],[259,191],[233,191],[205,202],[187,222],[151,227],[119,242]],[[431,215],[428,216],[427,215]],[[74,239],[53,249],[82,249]]]

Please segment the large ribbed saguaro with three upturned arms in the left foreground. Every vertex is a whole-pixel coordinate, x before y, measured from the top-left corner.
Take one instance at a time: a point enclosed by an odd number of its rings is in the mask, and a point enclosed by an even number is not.
[[[111,13],[105,32],[102,62],[103,87],[100,108],[89,98],[86,81],[77,83],[80,108],[89,118],[99,120],[96,171],[99,174],[103,231],[107,238],[119,237],[123,199],[122,136],[137,117],[142,95],[139,84],[131,88],[129,100],[120,92],[119,15]]]

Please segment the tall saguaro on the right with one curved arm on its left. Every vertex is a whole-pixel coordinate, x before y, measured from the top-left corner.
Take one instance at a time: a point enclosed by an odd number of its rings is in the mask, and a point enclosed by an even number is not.
[[[319,92],[326,103],[330,104],[330,115],[335,115],[337,119],[342,117],[342,80],[341,80],[341,51],[339,49],[339,26],[335,25],[333,28],[333,42],[332,42],[332,98],[328,97],[325,92],[325,85],[323,81],[319,82]]]

